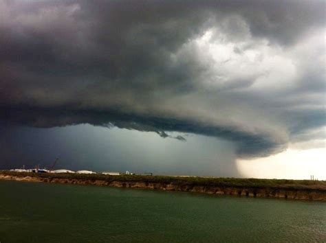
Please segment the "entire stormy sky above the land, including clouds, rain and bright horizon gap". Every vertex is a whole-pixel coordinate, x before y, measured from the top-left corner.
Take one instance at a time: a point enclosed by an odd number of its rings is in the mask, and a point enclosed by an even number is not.
[[[0,169],[326,179],[325,36],[325,1],[0,0]]]

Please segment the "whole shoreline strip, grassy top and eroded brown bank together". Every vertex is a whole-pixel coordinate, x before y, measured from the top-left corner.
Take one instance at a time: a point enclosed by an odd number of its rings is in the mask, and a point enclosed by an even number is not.
[[[326,201],[326,181],[177,176],[104,176],[0,171],[0,180]]]

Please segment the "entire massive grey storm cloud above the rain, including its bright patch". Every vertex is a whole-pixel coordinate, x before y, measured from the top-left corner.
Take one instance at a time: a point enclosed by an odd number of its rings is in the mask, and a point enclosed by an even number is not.
[[[279,152],[325,126],[324,10],[324,1],[0,1],[1,117],[193,132],[235,141],[239,156]]]

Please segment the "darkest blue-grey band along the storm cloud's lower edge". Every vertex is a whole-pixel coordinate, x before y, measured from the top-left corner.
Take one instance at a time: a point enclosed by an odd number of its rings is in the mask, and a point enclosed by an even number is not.
[[[129,130],[157,132],[160,137],[170,137],[186,141],[181,135],[168,135],[167,131],[191,132],[210,137],[221,137],[237,143],[237,154],[248,157],[252,154],[265,156],[274,151],[283,149],[283,144],[276,143],[268,135],[252,135],[248,132],[239,132],[232,127],[218,127],[200,124],[188,120],[169,119],[162,117],[142,117],[139,115],[122,115],[121,113],[94,112],[94,111],[67,111],[64,109],[11,108],[4,111],[1,119],[10,119],[10,124],[27,125],[37,128],[51,128],[74,124],[91,124],[94,126],[116,126]],[[166,132],[164,132],[166,131]]]

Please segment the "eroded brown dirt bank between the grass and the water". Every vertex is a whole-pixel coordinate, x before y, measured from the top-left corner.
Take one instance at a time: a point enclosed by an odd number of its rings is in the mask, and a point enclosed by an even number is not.
[[[65,176],[62,176],[65,177]],[[67,176],[66,176],[67,177]],[[261,187],[246,185],[194,185],[193,183],[182,183],[179,181],[172,182],[149,182],[149,181],[119,181],[114,177],[109,180],[104,178],[61,178],[61,176],[38,176],[31,174],[0,174],[0,179],[14,181],[31,181],[42,183],[69,183],[78,185],[98,185],[110,187],[127,187],[138,189],[160,189],[166,191],[180,192],[197,192],[205,194],[219,195],[235,195],[235,196],[251,196],[259,198],[285,198],[285,199],[301,199],[301,200],[325,200],[326,188],[315,185],[314,187],[294,187],[294,186],[278,186],[278,187]],[[87,177],[87,176],[86,176]],[[187,185],[188,184],[188,185]]]

